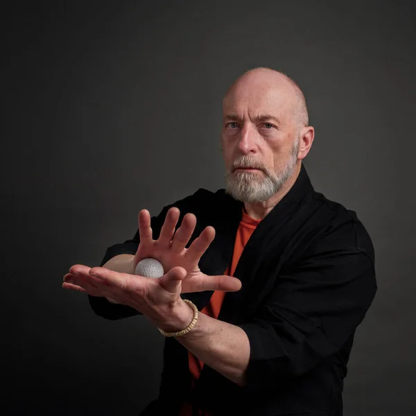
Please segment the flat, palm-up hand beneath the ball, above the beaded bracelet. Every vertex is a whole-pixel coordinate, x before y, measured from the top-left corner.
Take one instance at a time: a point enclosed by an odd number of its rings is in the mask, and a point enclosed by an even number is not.
[[[140,313],[165,331],[180,331],[193,318],[193,311],[180,297],[187,272],[180,267],[157,279],[115,272],[102,267],[71,266],[62,287],[92,296],[110,297]]]

